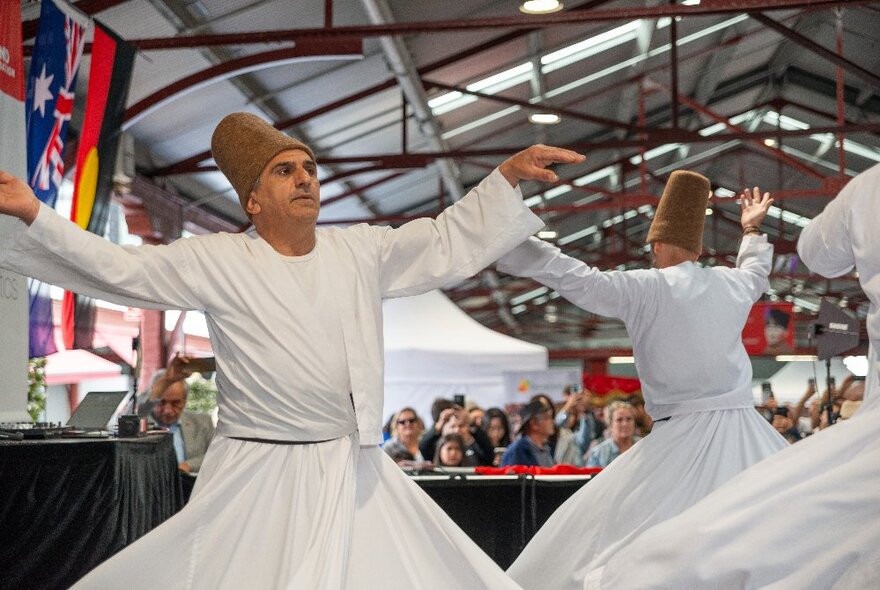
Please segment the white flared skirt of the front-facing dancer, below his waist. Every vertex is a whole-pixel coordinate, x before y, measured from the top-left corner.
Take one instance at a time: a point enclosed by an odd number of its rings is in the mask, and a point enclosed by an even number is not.
[[[519,588],[378,447],[217,437],[177,515],[77,589]]]

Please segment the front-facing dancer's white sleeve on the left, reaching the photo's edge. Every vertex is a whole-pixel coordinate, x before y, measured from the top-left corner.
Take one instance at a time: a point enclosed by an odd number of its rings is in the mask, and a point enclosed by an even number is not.
[[[70,291],[149,309],[203,309],[202,282],[187,240],[167,246],[119,246],[46,205],[27,227],[0,238],[0,267]]]

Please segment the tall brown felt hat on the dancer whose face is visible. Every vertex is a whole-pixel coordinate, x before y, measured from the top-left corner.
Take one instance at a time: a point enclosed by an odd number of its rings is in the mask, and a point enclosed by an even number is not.
[[[211,155],[238,193],[241,208],[245,211],[248,197],[263,168],[285,150],[303,150],[315,159],[309,146],[250,113],[226,115],[211,137]]]

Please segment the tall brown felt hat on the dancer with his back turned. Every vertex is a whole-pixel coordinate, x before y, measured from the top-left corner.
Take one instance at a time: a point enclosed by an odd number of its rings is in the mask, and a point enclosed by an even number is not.
[[[709,179],[702,174],[673,171],[648,230],[648,243],[663,242],[699,254],[710,190]]]

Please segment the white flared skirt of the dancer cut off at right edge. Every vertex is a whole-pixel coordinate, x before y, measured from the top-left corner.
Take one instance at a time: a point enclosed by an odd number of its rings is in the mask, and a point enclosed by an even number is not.
[[[586,587],[880,588],[880,403],[652,528],[592,572]]]

